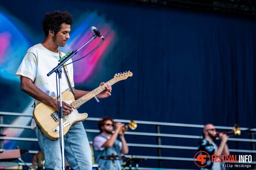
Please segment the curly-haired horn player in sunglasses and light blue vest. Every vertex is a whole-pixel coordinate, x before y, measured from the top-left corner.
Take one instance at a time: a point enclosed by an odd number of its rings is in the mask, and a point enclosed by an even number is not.
[[[124,138],[124,133],[119,135],[120,140],[117,139],[118,133],[124,127],[123,123],[114,122],[110,117],[103,117],[97,124],[100,134],[93,140],[93,151],[95,163],[99,164],[101,170],[120,170],[123,163],[122,160],[104,160],[101,156],[127,154],[129,148]],[[114,133],[113,133],[114,131]]]

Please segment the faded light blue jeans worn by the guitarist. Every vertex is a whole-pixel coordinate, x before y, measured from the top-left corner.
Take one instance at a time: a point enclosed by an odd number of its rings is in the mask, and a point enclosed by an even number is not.
[[[45,168],[61,170],[60,139],[49,140],[37,127],[35,132],[39,146],[45,154]],[[64,153],[71,168],[75,170],[92,170],[92,152],[82,122],[71,125],[64,136]]]

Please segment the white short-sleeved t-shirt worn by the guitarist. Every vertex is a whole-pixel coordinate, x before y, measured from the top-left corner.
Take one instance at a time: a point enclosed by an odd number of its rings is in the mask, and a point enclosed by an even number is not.
[[[62,53],[64,56],[65,54]],[[58,65],[60,59],[59,53],[52,52],[45,48],[42,44],[36,44],[30,47],[24,59],[22,60],[19,69],[16,72],[16,76],[24,76],[30,78],[34,85],[37,86],[44,93],[49,96],[57,97],[57,84],[56,84],[56,73],[50,76],[47,74]],[[72,62],[71,59],[67,63]],[[73,64],[67,65],[68,75],[70,78],[71,87],[74,87],[73,80]],[[57,76],[57,82],[59,84],[59,77]],[[70,91],[68,80],[65,75],[65,69],[62,68],[62,79],[61,79],[62,93],[64,91]],[[59,88],[59,85],[58,85]],[[60,94],[59,94],[60,95]],[[35,106],[41,103],[35,100]]]

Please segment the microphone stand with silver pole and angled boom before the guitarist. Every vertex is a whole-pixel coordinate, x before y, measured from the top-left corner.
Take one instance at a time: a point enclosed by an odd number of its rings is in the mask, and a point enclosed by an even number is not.
[[[81,50],[81,48],[83,48],[86,44],[88,44],[91,40],[95,39],[97,37],[97,35],[95,34],[94,36],[92,36],[92,38],[87,41],[82,47],[80,47],[78,50],[76,51],[72,51],[72,53],[70,53],[66,58],[62,58],[63,60],[58,64],[58,66],[56,66],[52,71],[50,71],[47,76],[50,76],[51,74],[53,74],[54,72],[56,72],[56,74],[59,75],[59,94],[60,94],[60,108],[59,108],[59,119],[60,119],[60,125],[59,125],[59,129],[60,129],[60,140],[61,140],[61,156],[62,156],[62,170],[65,170],[65,161],[64,161],[64,134],[63,134],[63,108],[62,108],[62,89],[61,89],[61,73],[62,73],[62,67],[64,65],[64,63],[66,63],[71,57],[73,57],[74,55],[76,55],[76,53]],[[58,98],[58,96],[57,96]]]

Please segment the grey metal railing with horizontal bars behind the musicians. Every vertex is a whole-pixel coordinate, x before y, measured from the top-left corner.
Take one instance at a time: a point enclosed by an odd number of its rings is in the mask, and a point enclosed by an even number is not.
[[[21,129],[29,129],[30,126],[24,125],[9,125],[3,124],[3,115],[9,116],[27,116],[31,117],[30,114],[21,114],[21,113],[11,113],[11,112],[0,112],[0,131],[3,132],[3,128],[21,128]],[[114,119],[116,122],[123,122],[129,123],[130,120],[123,120],[123,119]],[[87,118],[86,121],[99,121],[99,118]],[[147,133],[147,132],[125,132],[126,135],[139,135],[139,136],[153,136],[157,138],[157,144],[139,144],[139,143],[127,143],[129,147],[144,147],[144,148],[157,148],[158,156],[149,156],[149,155],[137,155],[137,158],[147,158],[158,160],[158,167],[161,168],[162,160],[179,160],[179,161],[194,161],[194,158],[184,158],[184,157],[164,157],[161,154],[162,149],[182,149],[182,150],[197,150],[197,147],[191,146],[176,146],[176,145],[162,145],[161,138],[162,137],[172,137],[172,138],[186,138],[186,139],[199,139],[199,136],[196,135],[178,135],[178,134],[166,134],[160,132],[160,126],[176,126],[176,127],[187,127],[187,128],[203,128],[203,125],[196,125],[196,124],[181,124],[181,123],[165,123],[165,122],[152,122],[152,121],[136,121],[137,124],[146,124],[146,125],[154,125],[156,126],[157,133]],[[226,127],[226,126],[215,126],[218,129],[225,129],[225,130],[232,130],[233,127]],[[85,129],[87,133],[99,133],[99,130],[96,129]],[[240,128],[240,130],[247,130],[250,132],[256,132],[256,129],[249,129],[249,128]],[[15,141],[30,141],[30,142],[37,142],[36,138],[22,138],[22,137],[8,137],[8,136],[0,136],[0,142],[3,140],[15,140]],[[237,142],[250,142],[251,146],[254,146],[256,139],[239,139],[239,138],[229,138],[229,141],[237,141]],[[92,141],[89,141],[92,144]],[[1,147],[3,148],[3,147]],[[229,149],[230,152],[240,152],[240,153],[251,153],[255,154],[256,151],[253,150],[241,150],[241,149]],[[37,151],[29,150],[29,153],[37,153]],[[126,157],[131,157],[132,155],[125,155]],[[256,164],[256,161],[250,162],[250,164]],[[153,170],[157,168],[142,168],[139,167],[140,170]],[[161,168],[161,170],[167,170]],[[170,170],[170,169],[168,169]]]

